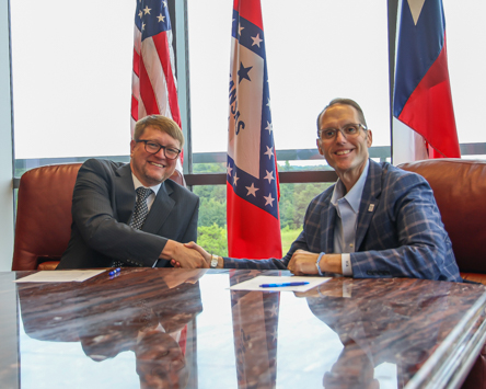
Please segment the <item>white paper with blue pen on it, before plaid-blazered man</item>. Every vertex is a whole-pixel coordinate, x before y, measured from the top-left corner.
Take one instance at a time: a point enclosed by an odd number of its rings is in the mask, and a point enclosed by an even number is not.
[[[306,291],[313,287],[321,285],[331,277],[296,277],[296,276],[267,276],[261,275],[258,277],[245,281],[243,283],[233,285],[231,290],[265,290],[265,291]],[[306,283],[299,286],[279,286],[282,284]],[[270,287],[263,287],[261,285],[275,285]]]

